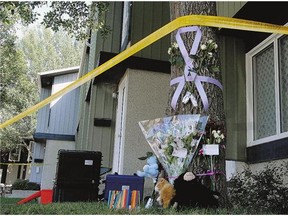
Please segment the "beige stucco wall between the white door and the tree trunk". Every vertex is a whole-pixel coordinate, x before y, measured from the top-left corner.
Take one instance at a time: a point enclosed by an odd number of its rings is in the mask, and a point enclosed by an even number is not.
[[[128,70],[127,113],[125,122],[123,173],[143,167],[138,157],[152,151],[138,126],[139,121],[165,116],[168,104],[170,75]]]

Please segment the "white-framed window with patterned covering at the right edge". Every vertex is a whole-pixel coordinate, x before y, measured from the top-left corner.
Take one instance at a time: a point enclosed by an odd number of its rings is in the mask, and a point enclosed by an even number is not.
[[[246,54],[248,146],[288,137],[288,36]]]

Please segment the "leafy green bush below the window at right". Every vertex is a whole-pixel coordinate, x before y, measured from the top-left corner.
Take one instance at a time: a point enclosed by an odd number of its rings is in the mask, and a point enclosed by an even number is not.
[[[263,170],[252,173],[249,168],[237,173],[229,181],[229,198],[237,207],[262,209],[275,214],[288,212],[287,163],[276,166],[272,163]]]

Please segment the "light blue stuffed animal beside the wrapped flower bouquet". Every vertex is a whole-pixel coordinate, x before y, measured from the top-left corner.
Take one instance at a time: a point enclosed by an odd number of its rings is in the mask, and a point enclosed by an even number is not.
[[[143,167],[143,171],[137,171],[138,176],[152,178],[154,183],[156,183],[158,174],[157,158],[154,155],[147,158],[147,164]]]

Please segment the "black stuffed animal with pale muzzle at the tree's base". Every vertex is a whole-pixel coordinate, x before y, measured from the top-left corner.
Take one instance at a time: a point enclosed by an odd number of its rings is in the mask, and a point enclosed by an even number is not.
[[[172,202],[177,203],[177,209],[183,207],[211,208],[218,207],[218,192],[212,191],[202,185],[200,180],[192,173],[182,173],[174,181],[176,195]],[[174,204],[175,207],[175,204]]]

